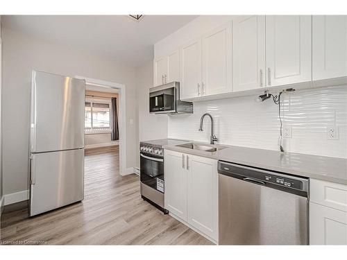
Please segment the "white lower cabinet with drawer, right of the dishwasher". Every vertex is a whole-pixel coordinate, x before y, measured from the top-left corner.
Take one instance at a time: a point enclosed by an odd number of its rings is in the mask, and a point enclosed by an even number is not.
[[[310,180],[310,245],[347,245],[347,186]]]

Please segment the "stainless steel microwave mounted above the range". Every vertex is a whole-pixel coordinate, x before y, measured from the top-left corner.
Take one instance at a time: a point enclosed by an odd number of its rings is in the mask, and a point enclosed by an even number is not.
[[[192,114],[193,103],[180,101],[180,83],[174,81],[149,89],[149,112],[152,114]]]

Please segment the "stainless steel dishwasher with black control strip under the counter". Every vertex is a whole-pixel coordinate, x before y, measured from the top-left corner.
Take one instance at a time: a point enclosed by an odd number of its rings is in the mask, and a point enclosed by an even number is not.
[[[218,162],[220,245],[307,245],[308,179]]]

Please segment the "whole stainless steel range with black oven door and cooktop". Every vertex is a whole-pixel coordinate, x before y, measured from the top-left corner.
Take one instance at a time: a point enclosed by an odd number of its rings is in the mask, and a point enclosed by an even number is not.
[[[183,144],[176,139],[158,139],[139,143],[141,197],[167,214],[164,209],[164,149],[167,144]]]

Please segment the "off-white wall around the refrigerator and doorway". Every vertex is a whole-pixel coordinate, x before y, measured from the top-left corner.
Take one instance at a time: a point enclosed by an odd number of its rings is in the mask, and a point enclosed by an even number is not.
[[[28,114],[31,71],[38,69],[126,85],[127,167],[136,164],[136,70],[3,28],[3,193],[28,189]]]

